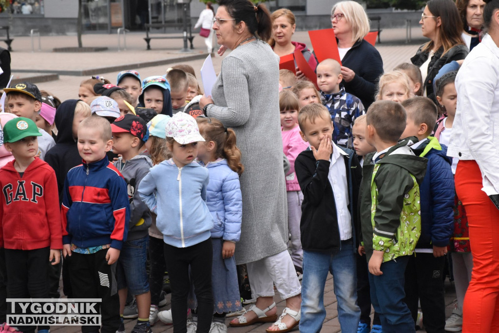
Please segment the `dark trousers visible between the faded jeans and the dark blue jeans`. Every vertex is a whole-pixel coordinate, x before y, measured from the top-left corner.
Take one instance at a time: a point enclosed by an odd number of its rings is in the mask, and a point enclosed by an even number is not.
[[[366,256],[355,255],[357,258],[357,304],[360,308],[360,320],[371,325],[371,290],[369,288],[369,270]],[[381,325],[378,313],[374,312],[373,325]]]

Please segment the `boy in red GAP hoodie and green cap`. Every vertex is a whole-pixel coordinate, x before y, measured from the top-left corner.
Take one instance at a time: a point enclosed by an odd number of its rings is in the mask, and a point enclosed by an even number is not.
[[[41,136],[34,121],[11,119],[3,126],[5,149],[14,160],[0,170],[0,247],[4,248],[9,298],[48,298],[47,260],[59,263],[62,224],[54,170],[34,156]],[[21,313],[20,309],[15,313]],[[22,332],[35,327],[23,326]],[[48,326],[38,327],[48,333]]]

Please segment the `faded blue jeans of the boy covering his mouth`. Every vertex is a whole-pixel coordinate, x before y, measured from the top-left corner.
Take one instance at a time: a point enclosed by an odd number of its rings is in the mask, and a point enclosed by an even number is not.
[[[357,306],[357,273],[352,240],[341,241],[335,255],[303,251],[300,333],[316,333],[326,318],[324,286],[327,273],[333,275],[338,301],[338,320],[343,333],[357,332],[360,309]]]

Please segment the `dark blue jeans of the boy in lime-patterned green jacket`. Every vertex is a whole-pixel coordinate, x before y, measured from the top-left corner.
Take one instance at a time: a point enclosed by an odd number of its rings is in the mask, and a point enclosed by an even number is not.
[[[382,275],[369,273],[371,303],[379,314],[383,333],[416,332],[414,320],[404,303],[405,270],[409,256],[381,264]]]

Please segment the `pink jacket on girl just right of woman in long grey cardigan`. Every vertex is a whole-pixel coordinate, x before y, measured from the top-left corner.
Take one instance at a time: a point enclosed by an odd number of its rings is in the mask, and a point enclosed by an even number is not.
[[[290,169],[286,175],[286,191],[300,191],[298,179],[294,173],[294,161],[299,153],[308,148],[308,143],[300,136],[300,128],[296,126],[289,131],[282,131],[282,150],[289,160]]]

